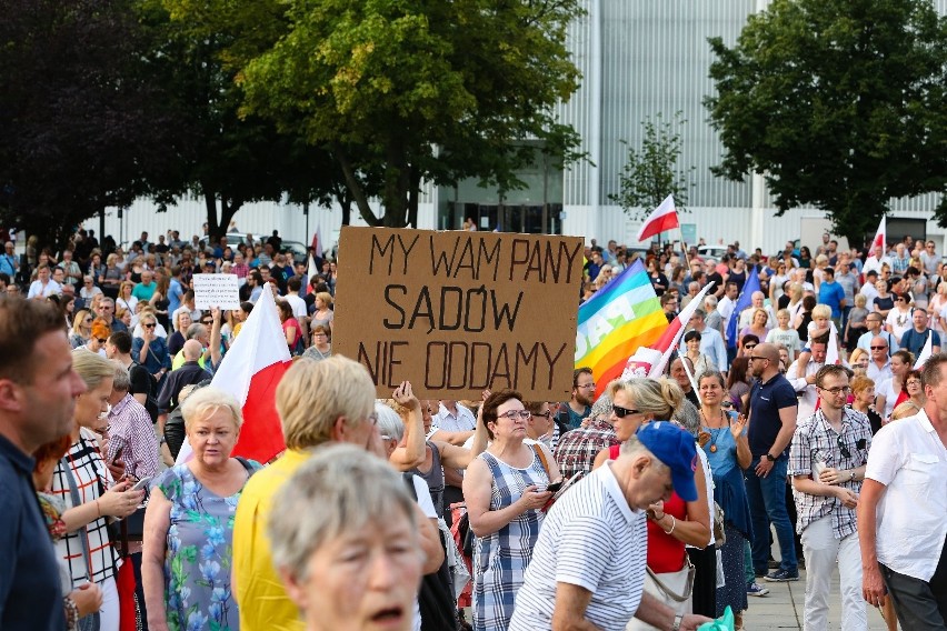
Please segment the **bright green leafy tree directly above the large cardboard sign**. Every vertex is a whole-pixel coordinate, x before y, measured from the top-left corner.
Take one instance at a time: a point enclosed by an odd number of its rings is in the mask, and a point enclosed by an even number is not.
[[[565,156],[577,146],[554,114],[577,88],[565,43],[577,0],[171,4],[205,34],[236,33],[222,57],[238,69],[245,116],[329,148],[369,224],[416,224],[422,179],[517,187],[531,159],[519,140]],[[379,174],[381,217],[367,173]]]

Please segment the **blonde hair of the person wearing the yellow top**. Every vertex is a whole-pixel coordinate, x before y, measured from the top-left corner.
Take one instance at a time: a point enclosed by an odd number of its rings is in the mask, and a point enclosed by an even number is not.
[[[375,410],[375,384],[360,363],[341,355],[293,362],[277,387],[277,412],[287,449],[308,449],[332,440],[346,417],[358,425]]]

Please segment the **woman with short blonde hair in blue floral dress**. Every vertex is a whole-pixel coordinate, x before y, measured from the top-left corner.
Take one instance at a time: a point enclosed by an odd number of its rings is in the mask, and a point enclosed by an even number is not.
[[[230,585],[233,514],[260,464],[230,458],[242,422],[233,397],[203,388],[181,411],[193,458],[158,478],[144,515],[148,628],[233,631],[240,625]]]

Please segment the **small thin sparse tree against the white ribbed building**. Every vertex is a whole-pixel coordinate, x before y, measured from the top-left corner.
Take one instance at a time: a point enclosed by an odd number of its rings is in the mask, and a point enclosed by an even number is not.
[[[641,148],[629,147],[628,161],[618,174],[619,192],[608,196],[634,219],[644,219],[669,194],[674,196],[677,210],[687,211],[688,192],[694,188],[688,176],[696,167],[677,167],[682,141],[676,128],[687,121],[680,112],[675,114],[674,123],[661,120],[660,113],[655,118],[657,121],[645,119],[641,123],[645,129]]]

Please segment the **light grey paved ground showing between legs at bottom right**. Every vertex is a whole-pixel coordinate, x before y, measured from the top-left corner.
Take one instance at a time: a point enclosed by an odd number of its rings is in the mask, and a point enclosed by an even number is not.
[[[744,617],[744,629],[758,631],[762,629],[795,629],[803,630],[803,610],[806,601],[806,571],[799,570],[799,580],[790,583],[768,583],[757,579],[759,584],[769,589],[765,597],[749,598],[749,611]],[[833,582],[829,597],[829,631],[841,629],[841,597],[838,592],[838,575]],[[881,614],[875,608],[868,608],[868,629],[885,631]]]

